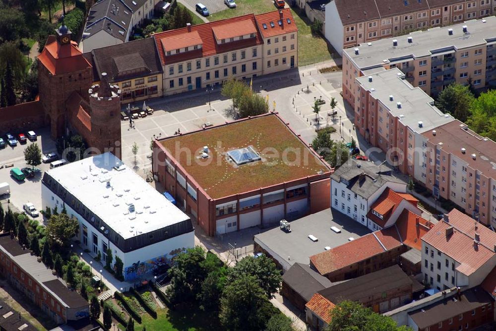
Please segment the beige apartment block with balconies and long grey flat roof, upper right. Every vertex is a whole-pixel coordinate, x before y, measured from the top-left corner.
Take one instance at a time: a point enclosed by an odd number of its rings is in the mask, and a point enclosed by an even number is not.
[[[414,1],[411,1],[414,2]],[[416,1],[415,1],[416,2]],[[429,95],[472,79],[475,88],[496,84],[496,17],[363,43],[343,51],[343,99],[355,106],[355,78],[398,67]]]

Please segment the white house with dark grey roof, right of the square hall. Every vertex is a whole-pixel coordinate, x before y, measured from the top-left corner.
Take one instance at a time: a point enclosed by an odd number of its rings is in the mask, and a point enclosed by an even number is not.
[[[369,227],[367,213],[372,204],[384,192],[391,188],[396,192],[406,192],[406,184],[392,177],[386,167],[372,162],[349,160],[331,174],[331,208],[348,215],[353,220]]]

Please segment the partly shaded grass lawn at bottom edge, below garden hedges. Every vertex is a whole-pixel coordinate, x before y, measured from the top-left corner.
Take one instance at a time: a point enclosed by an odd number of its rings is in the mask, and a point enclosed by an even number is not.
[[[134,330],[160,330],[160,331],[208,331],[222,330],[219,326],[208,326],[211,321],[210,313],[205,313],[198,308],[188,307],[187,309],[157,309],[157,319],[150,314],[141,315],[141,324],[134,321]],[[125,330],[119,324],[120,330]]]

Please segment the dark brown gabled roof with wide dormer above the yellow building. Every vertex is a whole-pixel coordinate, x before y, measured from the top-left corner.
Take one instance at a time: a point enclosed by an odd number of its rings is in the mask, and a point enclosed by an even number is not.
[[[162,72],[153,38],[102,47],[84,55],[91,56],[95,63],[97,74],[94,81],[100,80],[102,72],[107,73],[110,83]]]

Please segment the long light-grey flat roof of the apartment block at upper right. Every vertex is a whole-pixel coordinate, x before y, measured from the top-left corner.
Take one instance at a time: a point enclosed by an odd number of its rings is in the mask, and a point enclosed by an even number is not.
[[[464,25],[467,26],[467,33],[463,32]],[[452,35],[448,34],[448,29],[453,30]],[[408,37],[413,38],[412,43],[408,42]],[[393,47],[393,40],[398,41],[398,46]],[[360,44],[357,47],[359,49],[358,55],[355,54],[354,48],[345,49],[343,52],[355,62],[356,66],[366,69],[382,66],[389,62],[404,62],[408,61],[408,58],[449,51],[449,48],[454,51],[455,49],[483,45],[487,42],[496,42],[495,16]]]

